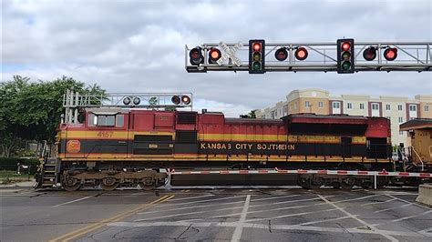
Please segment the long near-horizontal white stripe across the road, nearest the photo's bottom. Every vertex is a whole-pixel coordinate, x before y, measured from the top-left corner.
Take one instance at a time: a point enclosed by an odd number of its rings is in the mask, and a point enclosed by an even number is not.
[[[203,222],[203,223],[190,223],[185,221],[177,222],[116,222],[108,224],[110,227],[237,227],[237,222]],[[261,228],[267,230],[267,224],[251,224],[244,223],[242,227],[247,228]],[[432,237],[432,234],[418,234],[416,232],[400,232],[389,230],[367,230],[358,228],[340,228],[340,227],[312,227],[300,225],[272,225],[272,229],[276,230],[300,230],[300,231],[318,231],[318,232],[331,232],[331,233],[355,233],[355,234],[372,234],[372,235],[386,235],[386,236],[404,236],[404,237]]]

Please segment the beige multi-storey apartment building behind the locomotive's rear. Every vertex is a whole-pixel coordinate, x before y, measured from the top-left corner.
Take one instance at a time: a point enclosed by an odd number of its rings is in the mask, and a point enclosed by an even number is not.
[[[390,119],[392,143],[407,145],[407,134],[399,131],[399,125],[417,117],[432,118],[432,95],[417,95],[414,99],[404,96],[330,96],[327,90],[306,88],[293,90],[275,106],[257,110],[256,117],[274,119],[299,113],[384,116]]]

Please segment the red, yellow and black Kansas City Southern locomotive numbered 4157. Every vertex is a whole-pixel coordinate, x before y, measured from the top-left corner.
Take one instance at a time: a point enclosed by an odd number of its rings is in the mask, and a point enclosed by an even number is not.
[[[38,177],[40,187],[49,180],[66,190],[151,189],[166,183],[170,168],[392,171],[397,164],[391,151],[383,117],[296,114],[270,120],[99,107],[85,109],[82,124],[60,124],[57,156],[46,157]]]

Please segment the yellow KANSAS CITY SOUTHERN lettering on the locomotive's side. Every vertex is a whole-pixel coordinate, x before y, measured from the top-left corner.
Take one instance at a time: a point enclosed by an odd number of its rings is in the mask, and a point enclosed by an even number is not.
[[[294,144],[267,144],[267,143],[207,143],[200,144],[203,150],[294,150]]]

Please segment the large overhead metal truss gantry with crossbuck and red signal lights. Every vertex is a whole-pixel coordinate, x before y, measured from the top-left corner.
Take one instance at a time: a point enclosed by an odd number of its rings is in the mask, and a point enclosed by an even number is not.
[[[262,74],[297,71],[423,72],[432,68],[432,42],[357,42],[349,38],[324,43],[268,43],[259,40],[263,53],[259,58],[261,66],[258,66],[253,59],[256,55],[253,44],[257,41],[204,43],[193,48],[185,45],[186,70],[191,73],[249,71],[251,74]],[[348,47],[346,43],[350,46],[344,51]]]

